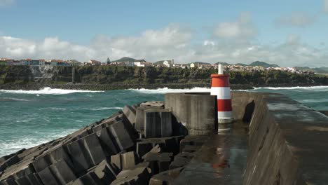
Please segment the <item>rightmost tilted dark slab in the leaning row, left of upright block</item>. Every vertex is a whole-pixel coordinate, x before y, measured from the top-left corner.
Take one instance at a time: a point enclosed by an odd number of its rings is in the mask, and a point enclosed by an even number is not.
[[[130,132],[122,121],[109,125],[109,132],[113,135],[116,145],[120,151],[125,151],[135,145]]]

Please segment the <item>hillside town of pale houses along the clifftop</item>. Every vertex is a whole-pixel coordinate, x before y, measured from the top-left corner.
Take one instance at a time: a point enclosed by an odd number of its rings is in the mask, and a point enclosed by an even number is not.
[[[220,62],[215,64],[205,62],[192,62],[189,64],[176,64],[174,59],[172,60],[160,60],[158,62],[147,62],[146,60],[135,60],[130,57],[123,57],[120,60],[111,61],[109,57],[105,62],[97,60],[88,60],[86,62],[79,62],[78,60],[44,60],[44,59],[24,59],[24,60],[13,60],[8,58],[0,58],[0,65],[29,65],[29,66],[126,66],[126,67],[173,67],[173,68],[184,68],[184,69],[217,69]],[[264,62],[263,62],[264,63]],[[266,63],[264,63],[266,64]],[[270,67],[264,67],[262,65],[247,65],[247,64],[224,64],[226,70],[229,71],[289,71],[298,74],[313,73],[312,71],[299,70],[294,67],[278,67],[273,64]]]

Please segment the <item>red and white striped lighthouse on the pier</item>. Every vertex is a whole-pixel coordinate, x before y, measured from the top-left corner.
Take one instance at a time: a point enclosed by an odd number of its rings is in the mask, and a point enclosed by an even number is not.
[[[231,106],[231,93],[229,76],[223,73],[222,65],[218,66],[218,74],[212,74],[211,95],[217,96],[217,118],[220,126],[224,123],[233,123],[233,114]]]

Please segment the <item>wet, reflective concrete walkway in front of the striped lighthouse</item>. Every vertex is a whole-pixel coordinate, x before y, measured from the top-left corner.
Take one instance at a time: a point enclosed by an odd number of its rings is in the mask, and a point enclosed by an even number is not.
[[[235,121],[230,132],[207,140],[174,184],[242,184],[247,143],[248,125]]]

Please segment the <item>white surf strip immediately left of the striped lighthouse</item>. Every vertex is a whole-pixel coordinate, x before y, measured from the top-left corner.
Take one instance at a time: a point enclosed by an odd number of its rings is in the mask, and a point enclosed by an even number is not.
[[[191,89],[171,89],[171,88],[158,88],[158,89],[129,89],[138,93],[145,94],[165,94],[165,93],[203,93],[210,92],[210,88],[191,88]]]

